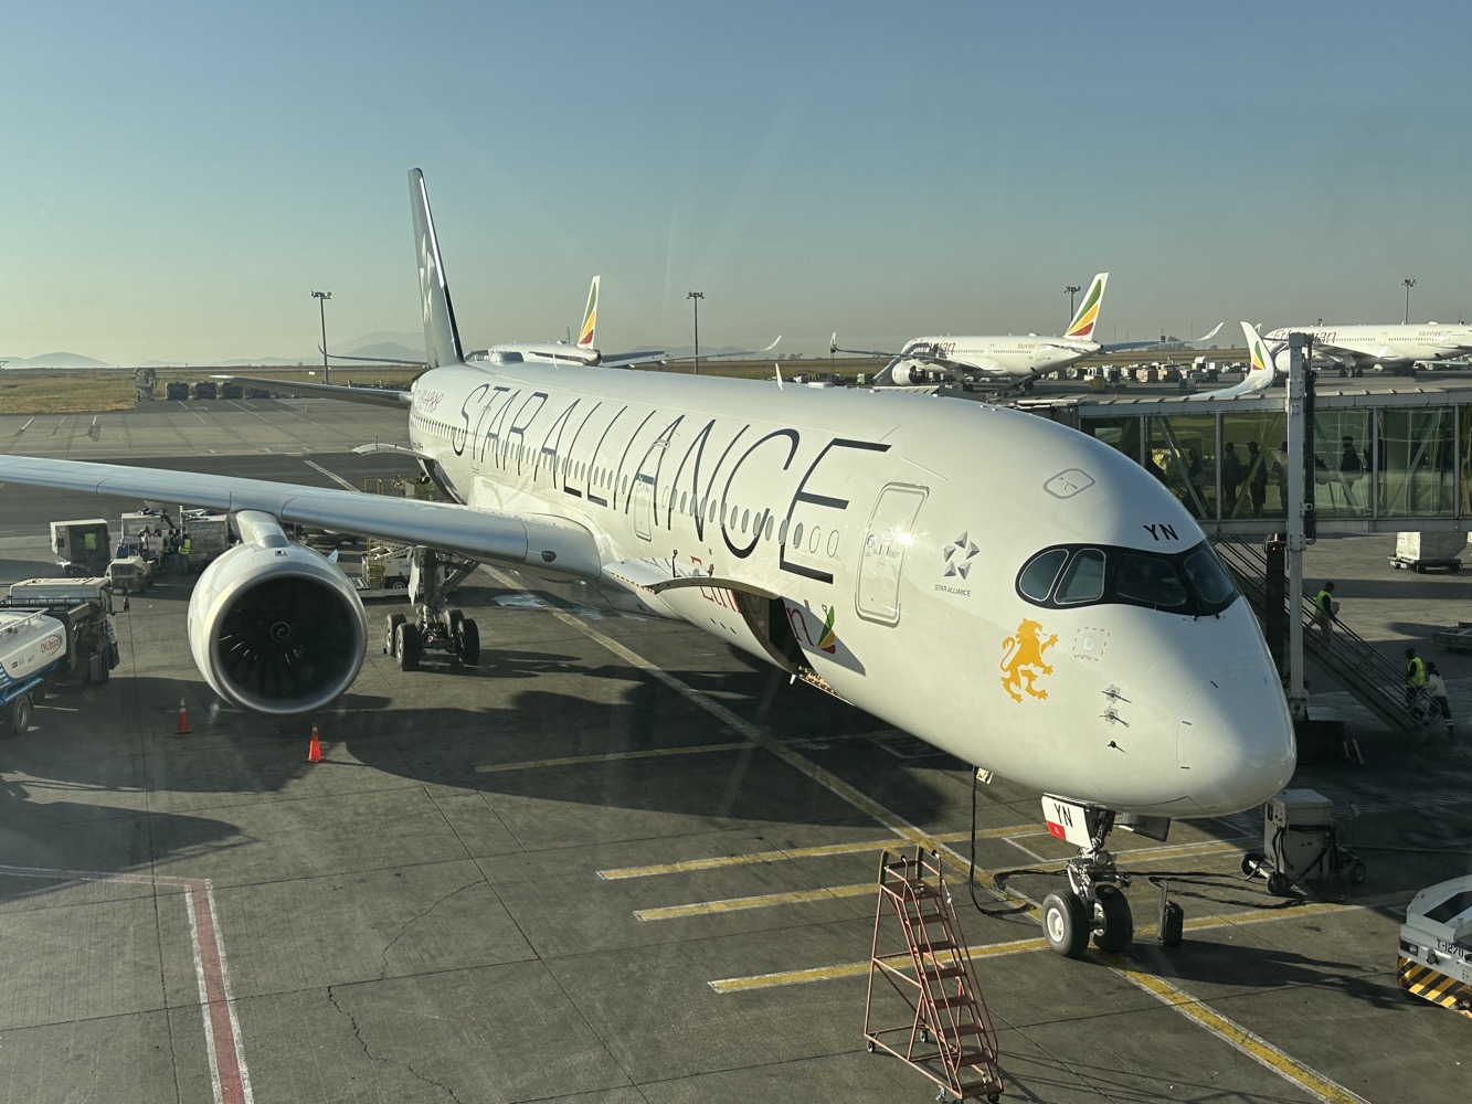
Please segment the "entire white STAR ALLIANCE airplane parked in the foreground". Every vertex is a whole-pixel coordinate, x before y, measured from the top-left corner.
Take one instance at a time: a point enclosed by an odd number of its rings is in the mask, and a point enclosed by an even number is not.
[[[1069,955],[1091,935],[1132,939],[1128,874],[1105,848],[1116,821],[1160,832],[1288,783],[1292,726],[1257,621],[1142,467],[986,403],[465,364],[418,169],[409,187],[433,367],[408,393],[339,393],[402,403],[402,450],[455,502],[0,456],[0,481],[234,512],[243,543],[188,605],[196,664],[222,698],[311,712],[364,662],[352,584],[284,524],[581,580],[1045,793],[1050,832],[1080,852],[1042,907]],[[364,450],[378,447],[392,446]],[[433,578],[411,583],[412,620],[387,623],[405,670],[446,633],[478,657]]]

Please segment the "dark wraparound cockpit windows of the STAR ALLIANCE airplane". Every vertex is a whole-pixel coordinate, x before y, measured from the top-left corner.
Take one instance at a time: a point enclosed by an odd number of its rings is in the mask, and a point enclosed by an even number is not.
[[[1017,593],[1041,606],[1144,605],[1172,614],[1219,614],[1236,586],[1206,542],[1185,552],[1055,545],[1017,573]]]

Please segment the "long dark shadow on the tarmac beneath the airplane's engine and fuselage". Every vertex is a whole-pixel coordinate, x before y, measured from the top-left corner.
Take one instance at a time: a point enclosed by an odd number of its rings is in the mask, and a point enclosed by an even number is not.
[[[534,682],[568,674],[589,692],[539,689]],[[773,689],[765,671],[674,674],[715,693],[724,708],[743,718],[762,708]],[[177,732],[178,679],[115,679],[81,692],[90,702],[88,714],[97,708],[109,714],[96,727],[77,718],[78,701],[69,698],[75,692],[68,687],[40,704],[32,730],[6,740],[0,752],[9,771],[47,786],[88,790],[275,793],[309,771],[358,767],[487,795],[646,813],[792,823],[855,815],[842,798],[746,743],[742,733],[683,693],[627,665],[580,667],[556,652],[487,649],[480,667],[461,676],[498,684],[487,686],[486,705],[464,689],[456,689],[456,696],[468,702],[465,707],[409,710],[389,708],[393,702],[387,696],[349,692],[321,714],[290,718],[224,708],[206,684],[188,682],[188,733]],[[521,689],[508,689],[508,682]],[[608,683],[623,686],[596,689]],[[456,687],[462,686],[456,679]],[[771,711],[777,739],[883,727],[808,687],[789,689],[783,680],[777,692],[783,695]],[[434,695],[424,698],[443,702]],[[127,720],[116,720],[121,717]],[[324,764],[306,762],[314,724]],[[712,745],[720,748],[699,751]],[[637,755],[670,749],[699,754]],[[939,789],[924,782],[923,773],[905,780],[901,796],[907,808],[942,804]],[[228,826],[221,829],[230,835]]]

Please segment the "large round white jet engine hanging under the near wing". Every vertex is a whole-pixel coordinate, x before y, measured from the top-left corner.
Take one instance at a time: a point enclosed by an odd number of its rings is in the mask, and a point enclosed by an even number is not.
[[[243,511],[236,527],[243,543],[205,568],[190,598],[194,664],[221,698],[244,710],[280,717],[319,710],[362,668],[362,599],[271,515]]]

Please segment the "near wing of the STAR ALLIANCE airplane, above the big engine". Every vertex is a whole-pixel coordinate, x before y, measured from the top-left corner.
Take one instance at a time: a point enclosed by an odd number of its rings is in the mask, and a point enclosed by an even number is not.
[[[218,511],[255,509],[287,524],[427,545],[468,559],[536,567],[576,578],[598,578],[602,571],[593,534],[576,521],[556,517],[490,512],[336,487],[35,456],[0,456],[0,483],[4,481],[188,502]]]

